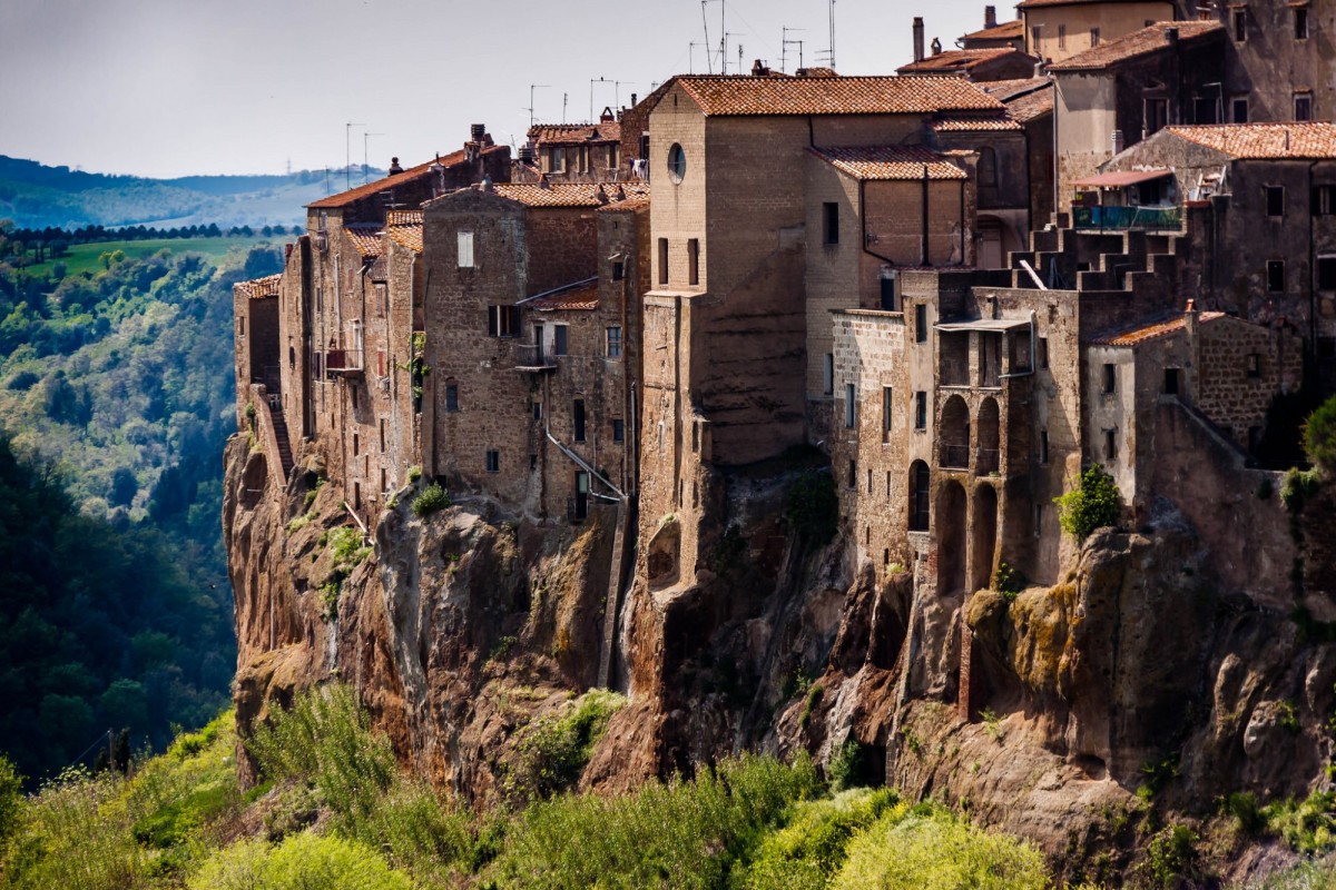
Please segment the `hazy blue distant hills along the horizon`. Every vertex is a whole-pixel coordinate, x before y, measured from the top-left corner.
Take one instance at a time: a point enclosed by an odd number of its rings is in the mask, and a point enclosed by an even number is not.
[[[385,172],[369,169],[378,179]],[[361,181],[361,168],[354,172]],[[330,188],[326,188],[329,181]],[[343,187],[343,171],[146,179],[47,167],[0,155],[0,219],[19,228],[293,226],[302,207]]]

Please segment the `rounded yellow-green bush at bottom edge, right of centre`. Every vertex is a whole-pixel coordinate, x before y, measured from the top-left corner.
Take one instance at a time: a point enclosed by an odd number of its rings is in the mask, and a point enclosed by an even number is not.
[[[891,810],[848,846],[832,890],[1042,890],[1043,857],[1030,845],[989,834],[950,813]]]

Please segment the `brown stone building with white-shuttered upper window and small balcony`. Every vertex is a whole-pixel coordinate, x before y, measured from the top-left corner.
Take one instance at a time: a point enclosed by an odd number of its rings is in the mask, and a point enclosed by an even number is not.
[[[497,184],[425,205],[429,475],[536,519],[625,498],[647,191]]]

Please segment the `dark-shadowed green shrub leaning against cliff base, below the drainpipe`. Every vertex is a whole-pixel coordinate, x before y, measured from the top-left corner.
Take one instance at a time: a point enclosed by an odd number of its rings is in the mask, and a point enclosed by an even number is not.
[[[608,721],[627,703],[625,697],[605,690],[581,695],[568,713],[544,717],[516,737],[516,761],[505,787],[513,799],[552,797],[580,781]]]

